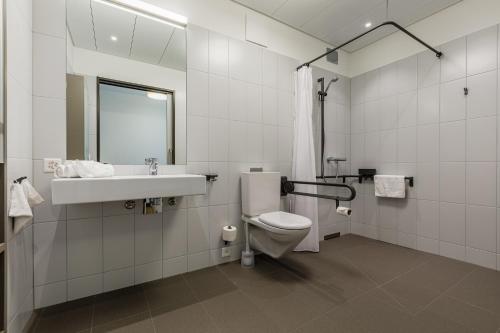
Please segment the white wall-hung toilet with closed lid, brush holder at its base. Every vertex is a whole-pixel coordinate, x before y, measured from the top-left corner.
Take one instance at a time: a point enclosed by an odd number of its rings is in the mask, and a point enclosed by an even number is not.
[[[242,220],[246,249],[242,265],[253,266],[253,251],[280,258],[294,249],[309,233],[312,222],[304,216],[280,211],[279,172],[241,174]]]

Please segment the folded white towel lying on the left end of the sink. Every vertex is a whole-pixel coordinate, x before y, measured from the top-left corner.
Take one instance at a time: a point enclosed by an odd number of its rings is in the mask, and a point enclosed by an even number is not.
[[[115,169],[111,164],[95,161],[66,161],[57,167],[55,176],[58,178],[102,178],[113,177]]]

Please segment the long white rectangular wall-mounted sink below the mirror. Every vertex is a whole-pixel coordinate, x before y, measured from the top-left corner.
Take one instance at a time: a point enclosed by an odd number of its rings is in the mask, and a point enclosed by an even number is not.
[[[178,197],[205,194],[203,175],[115,176],[106,178],[55,178],[54,205]]]

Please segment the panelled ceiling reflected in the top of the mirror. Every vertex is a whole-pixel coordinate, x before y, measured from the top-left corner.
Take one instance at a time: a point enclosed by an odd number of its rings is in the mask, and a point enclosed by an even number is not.
[[[67,26],[75,47],[186,70],[184,30],[92,0],[67,1]]]

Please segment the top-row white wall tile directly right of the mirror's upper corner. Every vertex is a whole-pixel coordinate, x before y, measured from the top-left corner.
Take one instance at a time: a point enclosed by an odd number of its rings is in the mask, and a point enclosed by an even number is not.
[[[187,29],[187,66],[208,72],[208,31],[193,25]]]

